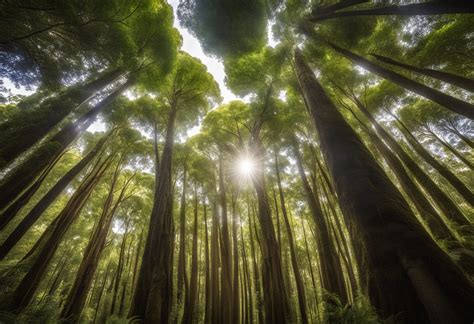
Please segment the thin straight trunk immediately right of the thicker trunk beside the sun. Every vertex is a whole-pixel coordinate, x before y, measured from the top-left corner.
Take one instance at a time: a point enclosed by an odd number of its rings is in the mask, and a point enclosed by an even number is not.
[[[291,267],[293,268],[293,275],[295,277],[296,282],[296,291],[298,293],[298,306],[300,310],[301,316],[301,323],[308,323],[308,314],[306,312],[306,294],[304,289],[303,278],[301,277],[301,271],[298,266],[298,260],[296,256],[296,249],[295,249],[295,240],[293,238],[293,232],[290,226],[290,221],[288,220],[288,214],[286,212],[286,204],[285,204],[285,196],[283,194],[283,188],[281,186],[281,178],[280,178],[280,167],[278,165],[278,152],[275,151],[275,173],[277,176],[278,182],[278,192],[280,194],[280,204],[281,204],[281,211],[283,214],[283,221],[286,227],[286,235],[288,237],[288,243],[290,246],[290,256],[291,256]]]

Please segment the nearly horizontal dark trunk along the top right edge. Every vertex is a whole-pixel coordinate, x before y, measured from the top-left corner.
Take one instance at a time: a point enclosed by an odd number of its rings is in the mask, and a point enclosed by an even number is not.
[[[474,12],[474,5],[468,1],[452,0],[426,1],[403,6],[393,5],[372,9],[330,12],[327,14],[313,14],[309,17],[311,22],[320,22],[327,19],[356,16],[430,16],[447,14],[468,14]]]

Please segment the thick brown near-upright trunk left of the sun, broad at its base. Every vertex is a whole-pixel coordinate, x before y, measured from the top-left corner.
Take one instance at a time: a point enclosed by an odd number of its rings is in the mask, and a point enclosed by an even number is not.
[[[158,182],[155,184],[153,209],[134,291],[129,318],[167,323],[173,295],[172,259],[174,225],[172,218],[171,168],[176,107],[168,116],[166,138],[161,156]]]

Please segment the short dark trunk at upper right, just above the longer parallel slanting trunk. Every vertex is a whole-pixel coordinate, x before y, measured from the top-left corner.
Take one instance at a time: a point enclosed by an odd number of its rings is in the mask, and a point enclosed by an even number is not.
[[[394,66],[398,66],[398,67],[404,68],[408,71],[419,73],[419,74],[422,74],[422,75],[425,75],[425,76],[428,76],[428,77],[431,77],[431,78],[435,78],[435,79],[438,79],[440,81],[450,83],[450,84],[455,85],[457,87],[463,88],[467,91],[474,92],[474,80],[472,80],[472,79],[469,79],[469,78],[466,78],[466,77],[463,77],[463,76],[459,76],[459,75],[456,75],[456,74],[452,74],[452,73],[449,73],[449,72],[443,72],[443,71],[438,71],[438,70],[433,70],[433,69],[420,68],[420,67],[413,66],[413,65],[410,65],[410,64],[395,61],[395,60],[393,60],[389,57],[385,57],[385,56],[382,56],[382,55],[377,55],[377,54],[370,54],[370,55],[372,55],[373,57],[375,57],[377,60],[379,60],[381,62],[388,63],[388,64],[391,64],[391,65],[394,65]]]

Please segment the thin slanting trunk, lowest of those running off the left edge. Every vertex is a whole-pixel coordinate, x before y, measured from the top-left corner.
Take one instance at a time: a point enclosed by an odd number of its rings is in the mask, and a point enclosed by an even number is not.
[[[33,224],[39,219],[43,212],[56,200],[59,194],[69,185],[74,179],[91,161],[92,159],[102,151],[102,147],[109,135],[104,136],[100,139],[96,146],[74,167],[72,167],[56,184],[36,203],[36,205],[28,212],[28,214],[21,220],[17,227],[12,233],[3,241],[0,246],[0,260],[3,260],[5,256],[11,251],[11,249],[20,241],[25,233],[33,226]],[[2,216],[7,215],[6,212]]]

